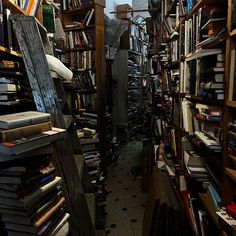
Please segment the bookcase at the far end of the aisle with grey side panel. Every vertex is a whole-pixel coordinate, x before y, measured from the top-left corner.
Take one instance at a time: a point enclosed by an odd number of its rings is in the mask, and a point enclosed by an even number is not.
[[[145,25],[140,24],[143,20],[137,16],[129,21],[129,28],[120,39],[120,49],[114,62],[117,96],[113,125],[117,139],[121,142],[141,134],[142,68],[147,46]]]

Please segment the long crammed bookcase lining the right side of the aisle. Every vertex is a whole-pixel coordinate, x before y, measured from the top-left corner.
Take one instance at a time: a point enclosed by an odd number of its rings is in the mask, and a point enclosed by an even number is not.
[[[171,104],[170,122],[161,117],[160,156],[185,209],[190,204],[194,234],[204,235],[208,222],[214,235],[234,235],[235,1],[164,0],[156,11],[150,53],[162,114]]]

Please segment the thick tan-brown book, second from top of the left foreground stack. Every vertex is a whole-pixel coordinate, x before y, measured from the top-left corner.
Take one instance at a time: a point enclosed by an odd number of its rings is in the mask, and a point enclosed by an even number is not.
[[[0,142],[22,139],[32,135],[40,134],[45,131],[49,131],[51,129],[51,121],[21,126],[13,129],[0,129]]]

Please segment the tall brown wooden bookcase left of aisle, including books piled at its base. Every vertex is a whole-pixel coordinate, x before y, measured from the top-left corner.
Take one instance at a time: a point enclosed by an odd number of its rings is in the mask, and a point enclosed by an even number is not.
[[[63,53],[73,79],[64,87],[74,115],[81,150],[96,196],[96,228],[104,228],[108,165],[107,127],[110,114],[106,100],[104,7],[105,1],[62,1],[61,19],[66,35]],[[99,220],[100,219],[100,220]]]

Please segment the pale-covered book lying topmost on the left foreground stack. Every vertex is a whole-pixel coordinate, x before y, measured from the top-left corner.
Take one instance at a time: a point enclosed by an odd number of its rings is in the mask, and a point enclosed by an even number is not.
[[[0,128],[1,129],[13,129],[20,126],[38,124],[46,122],[51,119],[49,113],[43,113],[38,111],[26,111],[20,113],[13,113],[0,116]]]

